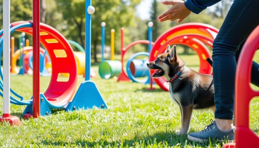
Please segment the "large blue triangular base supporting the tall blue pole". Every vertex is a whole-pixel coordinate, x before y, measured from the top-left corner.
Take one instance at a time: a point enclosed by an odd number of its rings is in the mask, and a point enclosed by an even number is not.
[[[93,106],[107,108],[95,83],[93,81],[84,81],[80,84],[73,100],[69,102],[64,109],[66,111],[73,111],[80,108],[92,108]]]

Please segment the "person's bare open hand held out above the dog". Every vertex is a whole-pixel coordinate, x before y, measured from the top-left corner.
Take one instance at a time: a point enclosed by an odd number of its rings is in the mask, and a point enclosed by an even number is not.
[[[161,14],[159,17],[157,17],[159,22],[163,22],[165,20],[174,21],[178,19],[177,23],[180,23],[191,13],[191,11],[185,7],[184,1],[172,0],[172,1],[162,1],[162,3],[164,5],[172,5],[172,7],[168,9],[166,12],[164,12],[163,14]]]

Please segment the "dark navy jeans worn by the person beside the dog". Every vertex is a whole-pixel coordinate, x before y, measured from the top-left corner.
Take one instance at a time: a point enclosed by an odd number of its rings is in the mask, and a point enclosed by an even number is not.
[[[213,42],[215,118],[234,117],[236,59],[244,41],[257,25],[259,25],[259,0],[234,0]],[[259,86],[259,65],[254,61],[251,83]]]

